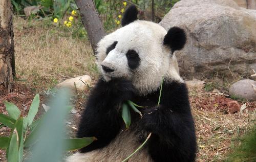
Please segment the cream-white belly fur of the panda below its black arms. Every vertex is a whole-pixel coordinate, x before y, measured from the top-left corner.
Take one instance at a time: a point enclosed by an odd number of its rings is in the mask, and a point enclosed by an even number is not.
[[[133,131],[126,130],[117,135],[108,146],[87,153],[75,153],[67,159],[67,162],[121,162],[132,154],[141,144],[139,137]],[[152,162],[146,148],[141,148],[129,161]]]

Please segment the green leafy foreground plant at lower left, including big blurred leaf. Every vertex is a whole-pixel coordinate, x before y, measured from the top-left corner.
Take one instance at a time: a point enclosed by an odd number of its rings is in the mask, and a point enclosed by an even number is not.
[[[6,150],[8,162],[23,161],[24,148],[28,151],[33,148],[30,161],[45,161],[46,158],[58,161],[62,151],[80,149],[96,140],[95,137],[68,139],[63,137],[65,132],[63,120],[72,108],[67,106],[67,97],[68,95],[59,94],[53,100],[52,108],[36,121],[34,118],[40,102],[38,94],[33,99],[27,117],[21,115],[16,105],[5,102],[8,115],[0,114],[0,122],[3,126],[11,128],[11,135],[0,137],[0,148]],[[39,154],[44,155],[44,153],[39,153],[38,150],[52,156],[39,158]],[[58,153],[59,156],[56,156]]]

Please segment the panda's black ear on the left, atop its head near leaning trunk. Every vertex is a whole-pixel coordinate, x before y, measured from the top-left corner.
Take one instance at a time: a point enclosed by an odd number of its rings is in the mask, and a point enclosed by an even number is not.
[[[122,26],[126,26],[131,22],[137,20],[138,19],[137,15],[138,15],[138,10],[136,6],[132,5],[129,8],[127,8],[127,10],[123,14]]]

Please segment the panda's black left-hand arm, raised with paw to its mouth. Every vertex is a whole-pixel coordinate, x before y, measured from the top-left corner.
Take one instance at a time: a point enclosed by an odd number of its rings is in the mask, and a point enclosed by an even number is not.
[[[132,95],[133,86],[129,81],[123,79],[98,81],[83,111],[77,132],[77,137],[95,136],[98,140],[82,148],[81,152],[102,148],[115,138],[122,124],[118,107]]]

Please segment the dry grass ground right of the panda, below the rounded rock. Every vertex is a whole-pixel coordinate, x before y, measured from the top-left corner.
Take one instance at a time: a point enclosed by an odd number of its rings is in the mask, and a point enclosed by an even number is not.
[[[238,139],[255,125],[256,102],[246,102],[248,112],[228,114],[216,106],[215,96],[205,91],[189,89],[189,97],[198,138],[197,161],[224,160]]]

